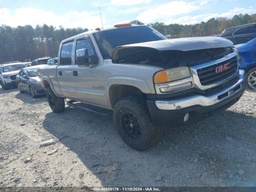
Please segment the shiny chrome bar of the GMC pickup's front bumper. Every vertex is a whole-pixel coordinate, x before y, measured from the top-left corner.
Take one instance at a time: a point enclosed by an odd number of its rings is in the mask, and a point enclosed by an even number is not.
[[[239,80],[236,82],[236,84],[213,95],[196,95],[176,100],[156,100],[155,103],[157,108],[161,110],[178,110],[196,105],[202,107],[212,106],[244,90],[244,80],[245,72],[244,70],[239,70]]]

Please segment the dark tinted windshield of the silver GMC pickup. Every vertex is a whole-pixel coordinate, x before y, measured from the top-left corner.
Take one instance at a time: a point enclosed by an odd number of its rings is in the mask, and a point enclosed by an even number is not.
[[[106,30],[94,34],[103,59],[110,59],[110,54],[117,46],[164,40],[166,37],[148,26],[124,27]]]

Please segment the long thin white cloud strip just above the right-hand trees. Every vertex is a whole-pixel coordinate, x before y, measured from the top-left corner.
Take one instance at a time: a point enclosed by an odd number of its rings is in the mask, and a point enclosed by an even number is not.
[[[196,16],[182,16],[178,19],[169,19],[166,21],[162,21],[165,24],[171,24],[171,23],[177,23],[177,24],[182,24],[182,25],[186,25],[186,24],[196,24],[196,23],[200,23],[202,21],[206,22],[211,18],[218,18],[218,17],[233,17],[236,14],[252,14],[255,13],[256,10],[252,9],[253,7],[250,6],[249,8],[234,8],[232,10],[229,10],[228,12],[224,12],[221,14],[218,13],[209,13],[209,14],[200,14],[200,15],[196,15]]]

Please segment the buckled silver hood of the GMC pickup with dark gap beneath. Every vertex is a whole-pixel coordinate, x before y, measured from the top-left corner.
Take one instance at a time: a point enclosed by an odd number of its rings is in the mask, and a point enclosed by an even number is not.
[[[178,38],[116,47],[113,63],[150,64],[162,68],[194,66],[230,54],[233,43],[220,37]]]

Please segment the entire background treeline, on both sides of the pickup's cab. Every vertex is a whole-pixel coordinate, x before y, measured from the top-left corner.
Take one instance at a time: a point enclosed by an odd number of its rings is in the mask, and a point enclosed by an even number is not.
[[[137,24],[140,21],[132,21]],[[212,18],[207,22],[193,25],[170,24],[162,22],[149,24],[162,34],[178,37],[213,36],[221,34],[225,28],[256,22],[256,14],[239,14],[232,19]],[[70,36],[88,31],[87,28],[63,28],[60,26],[0,26],[0,64],[8,61],[34,60],[35,58],[58,55],[60,42]]]

